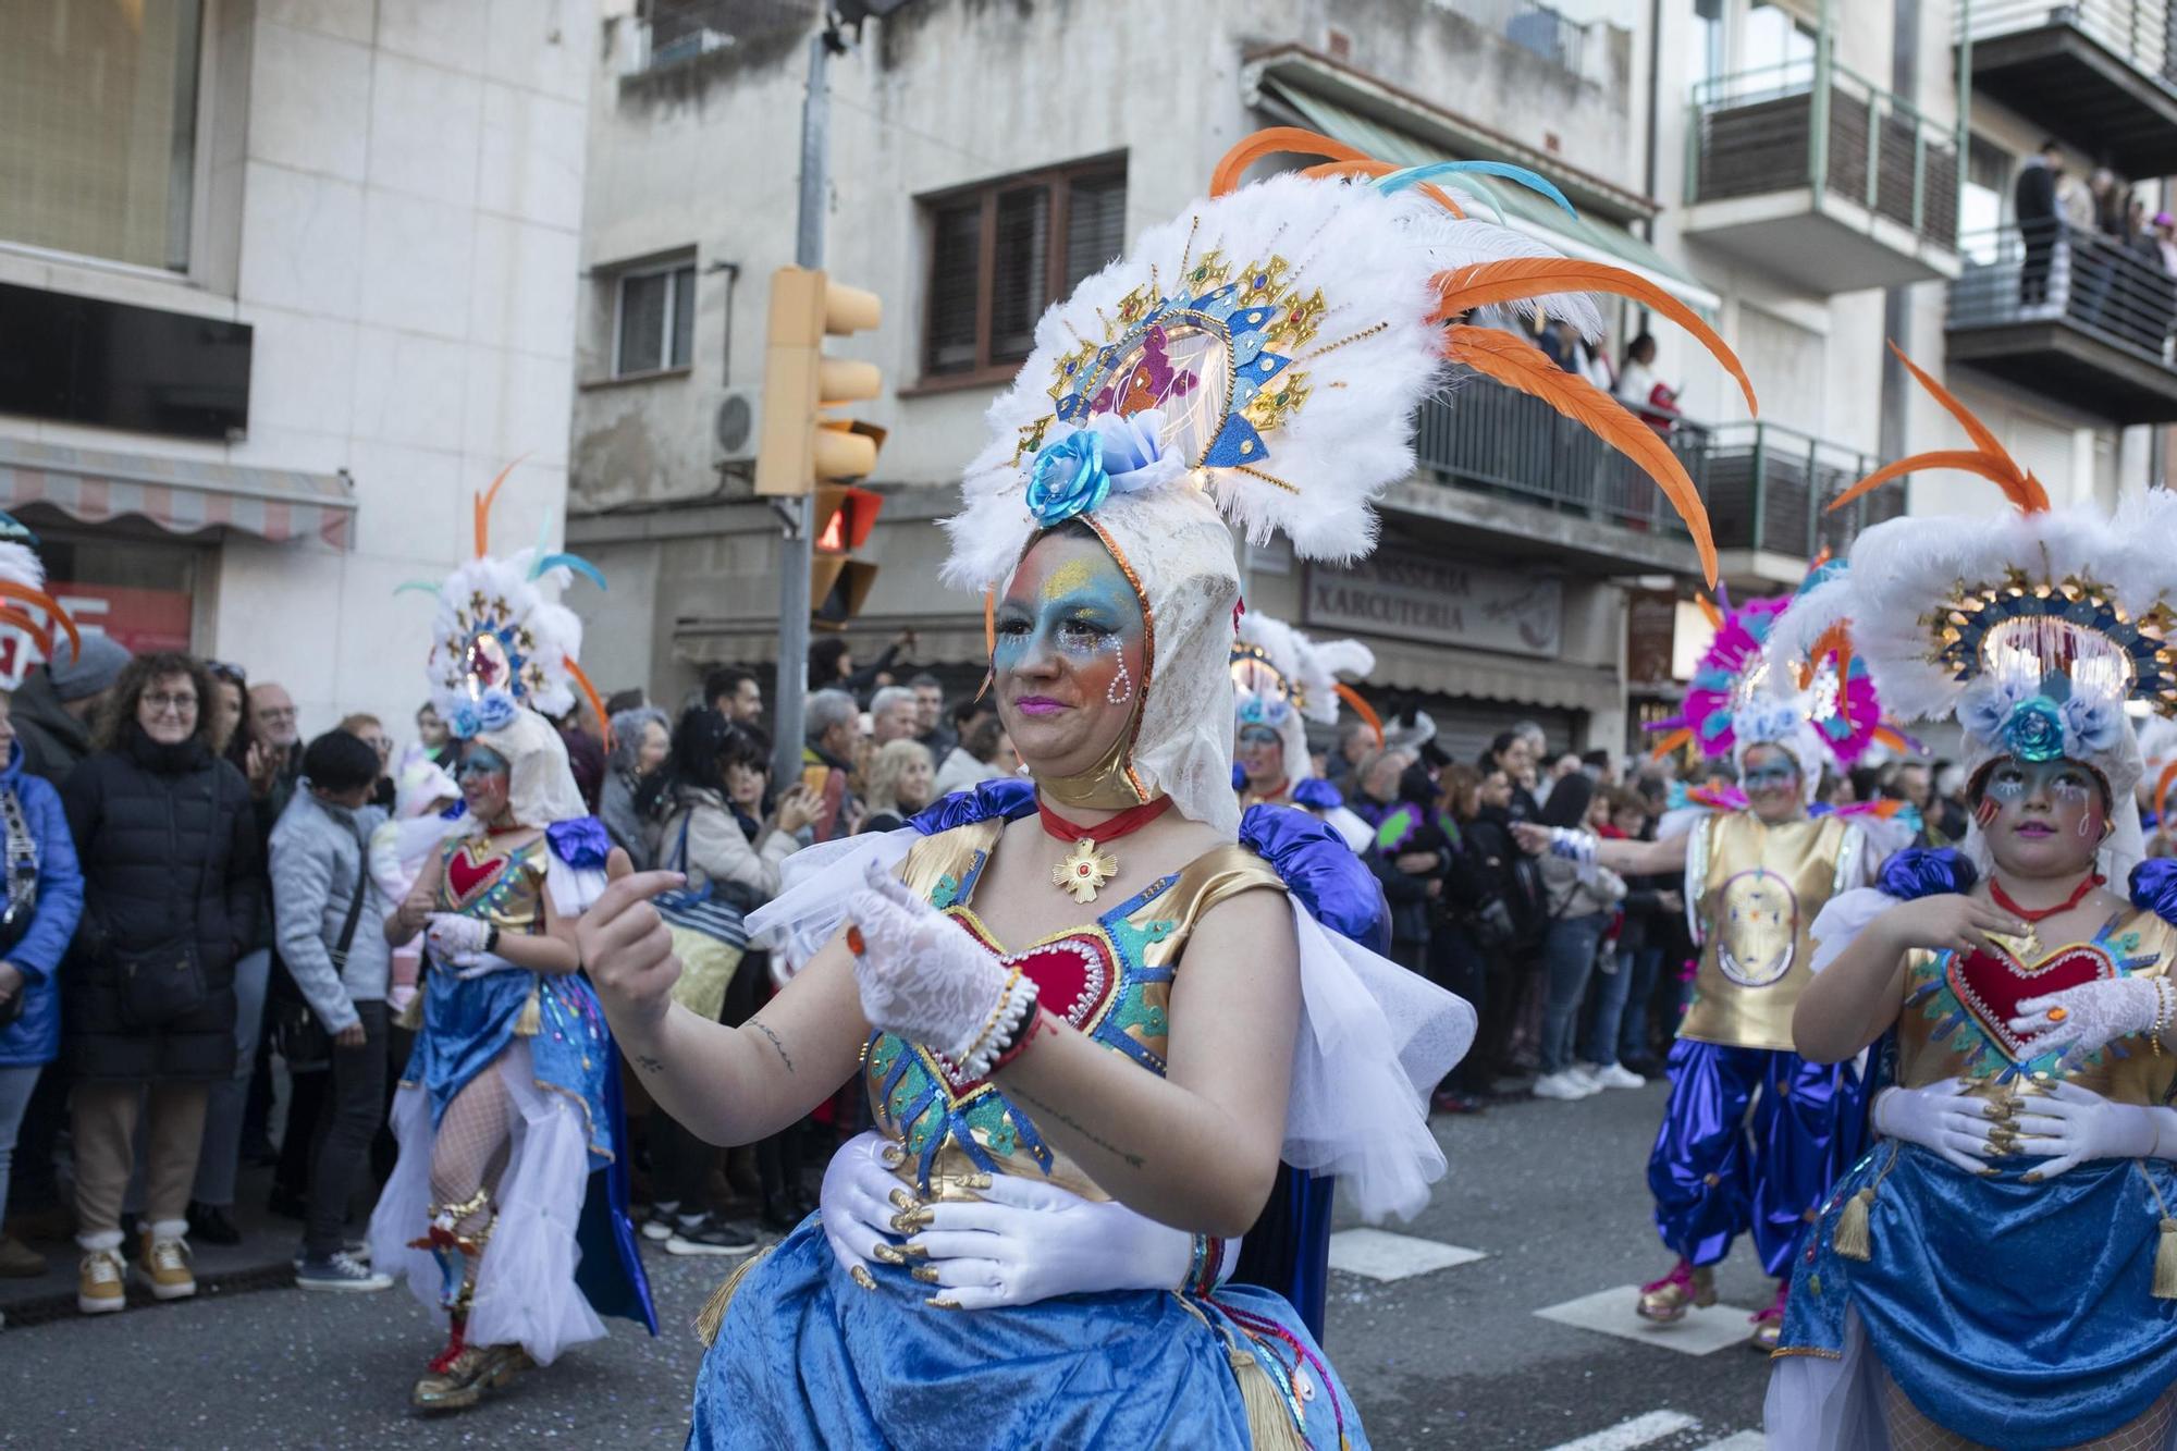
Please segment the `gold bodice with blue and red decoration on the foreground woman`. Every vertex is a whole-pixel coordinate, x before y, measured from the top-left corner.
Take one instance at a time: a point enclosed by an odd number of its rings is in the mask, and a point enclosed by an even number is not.
[[[1078,993],[1054,993],[1038,978],[1038,1004],[1065,1015],[1104,1048],[1163,1074],[1171,983],[1195,924],[1226,898],[1252,889],[1284,891],[1284,882],[1245,848],[1223,845],[1115,902],[1093,922],[1012,948],[997,943],[971,906],[1004,828],[993,819],[925,837],[908,852],[899,878],[993,950],[1019,959],[1054,950],[1086,965]],[[949,1068],[925,1048],[886,1033],[869,1039],[862,1076],[871,1113],[903,1150],[897,1174],[917,1194],[925,1200],[975,1198],[973,1176],[999,1172],[1049,1179],[1086,1198],[1110,1198],[1054,1150],[997,1085],[958,1083],[947,1074]]]

